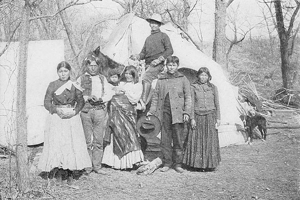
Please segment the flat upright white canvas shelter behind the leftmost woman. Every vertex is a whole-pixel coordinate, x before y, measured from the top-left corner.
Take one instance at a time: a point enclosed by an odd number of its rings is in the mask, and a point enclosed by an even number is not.
[[[0,43],[0,49],[6,42]],[[15,145],[16,78],[19,42],[11,42],[0,57],[0,145]],[[26,114],[28,145],[40,144],[48,111],[43,99],[49,82],[58,79],[57,64],[64,60],[63,40],[29,41],[27,58]]]

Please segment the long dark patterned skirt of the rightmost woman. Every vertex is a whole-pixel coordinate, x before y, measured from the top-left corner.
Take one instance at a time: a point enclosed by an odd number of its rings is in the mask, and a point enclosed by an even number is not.
[[[216,114],[194,116],[196,128],[188,131],[183,164],[193,168],[216,168],[221,161]]]

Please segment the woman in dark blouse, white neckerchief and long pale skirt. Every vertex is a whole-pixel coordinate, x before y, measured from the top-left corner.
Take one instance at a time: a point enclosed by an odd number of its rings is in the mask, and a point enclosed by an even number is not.
[[[78,115],[84,105],[82,88],[69,79],[70,71],[67,62],[60,62],[57,65],[59,79],[50,82],[47,88],[44,107],[49,111],[49,116],[38,162],[38,168],[43,172],[58,169],[58,184],[62,183],[62,171],[66,170],[68,185],[73,184],[73,170],[91,167]]]

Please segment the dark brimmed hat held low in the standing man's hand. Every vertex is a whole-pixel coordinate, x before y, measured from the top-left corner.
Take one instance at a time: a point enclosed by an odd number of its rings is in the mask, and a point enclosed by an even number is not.
[[[141,116],[136,123],[137,132],[144,138],[155,138],[160,131],[159,119],[154,115]]]

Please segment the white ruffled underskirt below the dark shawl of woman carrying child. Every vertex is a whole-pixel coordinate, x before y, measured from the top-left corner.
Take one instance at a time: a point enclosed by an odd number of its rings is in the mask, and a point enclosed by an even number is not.
[[[117,155],[113,154],[112,137],[111,134],[111,143],[104,149],[102,164],[108,165],[114,169],[122,170],[133,168],[134,164],[143,162],[144,157],[141,150],[129,152],[119,159]]]

